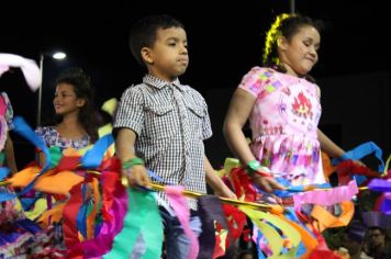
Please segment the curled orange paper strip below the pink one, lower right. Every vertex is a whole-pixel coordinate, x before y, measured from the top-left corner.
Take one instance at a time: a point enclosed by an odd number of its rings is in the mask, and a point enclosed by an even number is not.
[[[312,209],[311,216],[317,221],[316,229],[323,232],[326,228],[331,227],[342,227],[347,226],[355,214],[355,205],[353,202],[342,202],[340,215],[332,215],[325,207],[315,205]]]

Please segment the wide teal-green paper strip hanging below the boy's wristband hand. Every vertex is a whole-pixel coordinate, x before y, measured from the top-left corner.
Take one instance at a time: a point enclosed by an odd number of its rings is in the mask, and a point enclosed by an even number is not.
[[[129,210],[124,227],[115,236],[112,250],[103,258],[130,258],[139,236],[146,243],[145,254],[141,258],[160,258],[163,225],[154,194],[129,188],[127,199]]]

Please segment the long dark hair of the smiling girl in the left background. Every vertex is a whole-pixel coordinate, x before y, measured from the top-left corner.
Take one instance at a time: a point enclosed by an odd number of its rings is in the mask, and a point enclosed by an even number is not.
[[[71,68],[62,72],[57,80],[58,83],[68,83],[74,87],[76,95],[85,100],[85,105],[80,108],[78,121],[90,137],[90,142],[98,140],[98,114],[93,104],[93,89],[90,78],[85,75],[81,68]],[[59,116],[57,121],[62,121]]]

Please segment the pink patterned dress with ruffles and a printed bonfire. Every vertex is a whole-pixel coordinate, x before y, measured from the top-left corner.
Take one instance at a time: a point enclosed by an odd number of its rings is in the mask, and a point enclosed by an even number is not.
[[[249,117],[252,150],[275,177],[292,185],[323,183],[317,124],[320,90],[305,79],[254,67],[238,88],[256,98]]]

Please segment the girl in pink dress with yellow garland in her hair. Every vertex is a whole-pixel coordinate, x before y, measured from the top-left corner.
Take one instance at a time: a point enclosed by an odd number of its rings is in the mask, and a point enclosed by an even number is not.
[[[264,67],[252,68],[232,98],[224,122],[227,144],[267,192],[284,189],[279,182],[324,183],[321,149],[333,158],[345,153],[317,128],[321,90],[309,72],[317,63],[320,44],[316,22],[279,15],[266,37]],[[243,133],[247,120],[250,146]],[[265,177],[262,167],[271,177]]]

